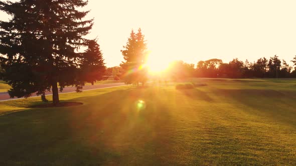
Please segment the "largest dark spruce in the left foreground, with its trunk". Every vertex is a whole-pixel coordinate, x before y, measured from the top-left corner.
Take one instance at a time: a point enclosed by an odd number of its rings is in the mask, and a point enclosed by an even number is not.
[[[83,20],[88,11],[77,8],[87,0],[0,1],[0,10],[12,18],[0,21],[1,66],[4,79],[12,86],[11,97],[28,97],[52,90],[59,103],[60,90],[67,85],[79,88],[77,73],[80,46],[93,20]]]

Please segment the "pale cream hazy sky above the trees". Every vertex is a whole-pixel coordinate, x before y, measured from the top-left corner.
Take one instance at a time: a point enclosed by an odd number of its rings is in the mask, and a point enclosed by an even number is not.
[[[152,61],[238,57],[249,61],[296,54],[296,0],[89,0],[107,66],[122,61],[131,28],[142,28]],[[7,16],[0,13],[0,19]]]

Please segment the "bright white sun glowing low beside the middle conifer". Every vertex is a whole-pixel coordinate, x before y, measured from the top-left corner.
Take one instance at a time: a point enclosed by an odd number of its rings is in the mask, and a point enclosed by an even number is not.
[[[146,62],[147,67],[149,68],[150,73],[157,73],[166,70],[169,66],[169,62],[166,59],[161,59],[155,54],[149,54]]]

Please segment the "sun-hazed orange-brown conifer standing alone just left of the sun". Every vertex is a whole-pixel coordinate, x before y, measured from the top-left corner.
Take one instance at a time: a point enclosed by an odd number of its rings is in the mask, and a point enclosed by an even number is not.
[[[147,44],[144,35],[139,28],[137,33],[131,30],[130,37],[121,53],[124,61],[121,63],[123,79],[127,84],[139,82],[142,84],[147,80],[147,67],[145,67],[147,56]]]

